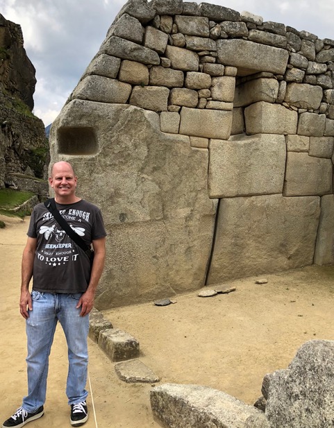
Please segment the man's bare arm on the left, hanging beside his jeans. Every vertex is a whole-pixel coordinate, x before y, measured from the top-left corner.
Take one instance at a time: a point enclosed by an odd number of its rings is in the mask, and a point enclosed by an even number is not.
[[[21,282],[21,297],[19,300],[19,311],[23,318],[28,318],[28,308],[33,309],[31,294],[29,293],[29,282],[33,276],[33,260],[35,258],[35,250],[37,247],[36,238],[28,238],[22,255],[22,282]]]

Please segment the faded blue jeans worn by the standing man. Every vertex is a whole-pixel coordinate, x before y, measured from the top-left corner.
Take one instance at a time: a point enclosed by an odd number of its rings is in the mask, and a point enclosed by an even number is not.
[[[85,400],[88,395],[85,384],[89,316],[79,316],[81,308],[76,309],[81,296],[82,293],[31,293],[33,310],[29,311],[29,318],[26,320],[28,395],[24,397],[22,404],[28,412],[36,411],[45,402],[49,354],[58,320],[64,330],[68,347],[68,402],[76,404]]]

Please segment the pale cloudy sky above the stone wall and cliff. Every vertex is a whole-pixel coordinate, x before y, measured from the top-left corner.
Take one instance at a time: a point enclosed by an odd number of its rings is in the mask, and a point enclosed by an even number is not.
[[[281,22],[334,39],[333,0],[206,0],[264,21]],[[0,13],[22,26],[24,47],[36,69],[34,113],[47,126],[106,37],[125,0],[0,0]],[[200,3],[200,1],[198,1]]]

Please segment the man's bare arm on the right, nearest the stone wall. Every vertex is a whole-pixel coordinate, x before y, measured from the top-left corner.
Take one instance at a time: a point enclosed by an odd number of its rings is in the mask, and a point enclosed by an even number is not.
[[[87,290],[78,301],[78,305],[76,305],[76,307],[81,307],[80,316],[85,316],[92,310],[95,291],[97,291],[97,284],[99,284],[104,267],[104,260],[106,259],[106,238],[94,239],[92,244],[94,248],[94,262],[90,275],[90,283],[88,284]]]

